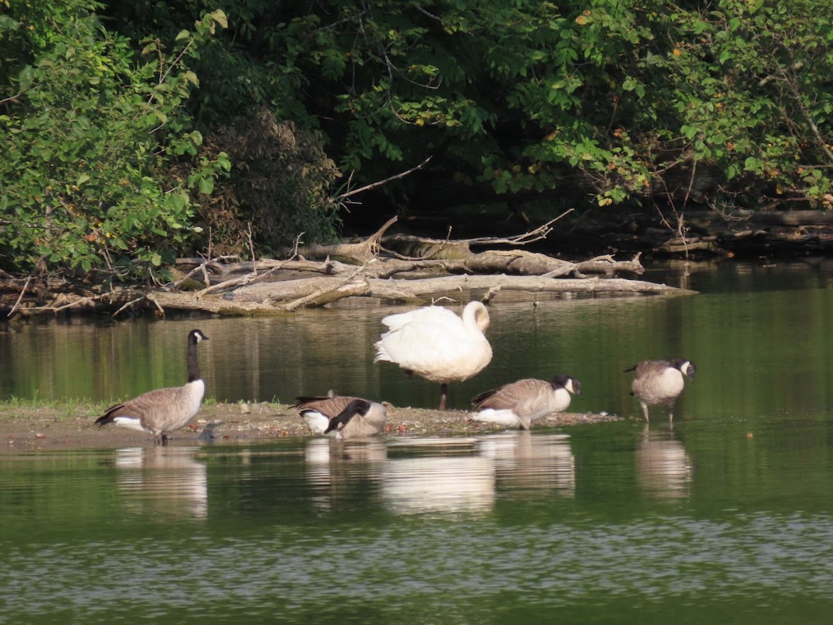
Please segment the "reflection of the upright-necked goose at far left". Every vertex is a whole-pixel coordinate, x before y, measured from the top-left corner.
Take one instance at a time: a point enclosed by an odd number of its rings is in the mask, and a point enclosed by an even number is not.
[[[127,506],[147,515],[208,515],[205,464],[194,448],[140,447],[116,450],[118,488]]]

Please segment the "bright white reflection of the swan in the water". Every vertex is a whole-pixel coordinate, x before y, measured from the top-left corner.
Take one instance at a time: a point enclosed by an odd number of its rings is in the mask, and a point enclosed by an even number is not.
[[[485,513],[495,503],[495,463],[473,439],[421,439],[396,446],[409,458],[385,465],[382,497],[393,512]],[[451,455],[451,454],[457,455]]]

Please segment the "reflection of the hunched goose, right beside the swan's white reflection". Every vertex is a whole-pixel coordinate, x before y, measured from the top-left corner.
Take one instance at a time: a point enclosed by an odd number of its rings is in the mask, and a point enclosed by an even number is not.
[[[494,461],[501,492],[551,490],[562,497],[576,495],[576,459],[567,434],[529,430],[490,434],[479,439],[478,449]]]

